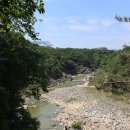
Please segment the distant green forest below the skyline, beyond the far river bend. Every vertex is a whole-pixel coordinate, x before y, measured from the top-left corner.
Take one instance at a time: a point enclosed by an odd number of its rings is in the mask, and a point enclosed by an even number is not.
[[[77,74],[82,66],[94,70],[100,66],[100,62],[106,55],[112,53],[109,50],[99,49],[62,49],[38,45],[36,48],[42,55],[41,65],[44,66],[48,80],[61,78],[63,72],[71,75]]]

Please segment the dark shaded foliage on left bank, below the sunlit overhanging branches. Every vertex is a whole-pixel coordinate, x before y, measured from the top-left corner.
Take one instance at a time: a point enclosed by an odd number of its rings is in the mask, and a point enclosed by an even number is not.
[[[28,84],[45,89],[42,56],[35,46],[16,33],[0,34],[0,129],[36,130],[39,123],[24,110],[21,90]]]

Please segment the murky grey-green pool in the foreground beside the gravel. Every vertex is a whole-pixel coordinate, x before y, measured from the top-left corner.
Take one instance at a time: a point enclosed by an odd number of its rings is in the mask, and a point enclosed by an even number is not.
[[[63,130],[64,126],[52,120],[56,117],[55,112],[59,110],[59,106],[43,102],[37,102],[35,105],[36,107],[34,108],[29,107],[29,112],[32,117],[37,117],[40,121],[40,130]]]

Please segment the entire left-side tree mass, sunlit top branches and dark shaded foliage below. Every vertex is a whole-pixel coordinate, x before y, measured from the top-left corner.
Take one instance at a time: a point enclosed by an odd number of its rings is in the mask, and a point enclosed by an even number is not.
[[[46,86],[41,55],[23,36],[37,39],[34,13],[44,13],[43,5],[42,0],[0,0],[0,130],[39,128],[23,108],[21,90],[29,84]],[[38,91],[32,92],[38,97]]]

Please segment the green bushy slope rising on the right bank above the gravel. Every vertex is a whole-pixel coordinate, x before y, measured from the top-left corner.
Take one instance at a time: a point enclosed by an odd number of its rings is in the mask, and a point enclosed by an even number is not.
[[[107,55],[100,64],[97,76],[91,79],[97,89],[122,95],[130,92],[130,47]]]

